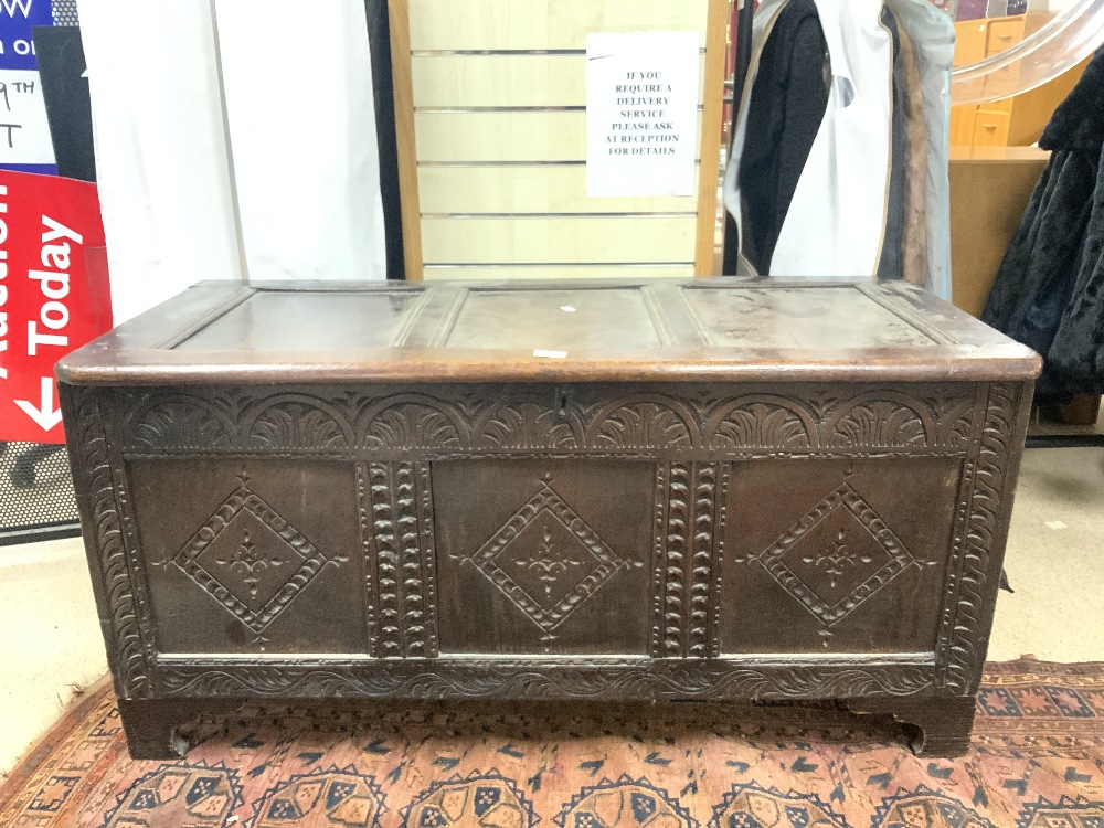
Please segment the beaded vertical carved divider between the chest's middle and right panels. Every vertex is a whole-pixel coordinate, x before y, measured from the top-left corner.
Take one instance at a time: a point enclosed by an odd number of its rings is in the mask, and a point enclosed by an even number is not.
[[[654,658],[707,658],[718,655],[714,625],[718,609],[715,576],[723,538],[728,464],[671,463],[660,476],[666,502],[660,503],[656,582],[659,618],[654,625]]]

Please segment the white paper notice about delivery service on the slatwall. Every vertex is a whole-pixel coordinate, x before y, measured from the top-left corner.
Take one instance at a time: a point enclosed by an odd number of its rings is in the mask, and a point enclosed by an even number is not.
[[[586,194],[692,195],[698,32],[586,36]]]

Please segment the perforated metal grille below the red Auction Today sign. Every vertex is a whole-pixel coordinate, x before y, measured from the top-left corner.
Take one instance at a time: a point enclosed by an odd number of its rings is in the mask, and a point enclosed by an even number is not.
[[[0,443],[0,546],[79,531],[65,447]]]

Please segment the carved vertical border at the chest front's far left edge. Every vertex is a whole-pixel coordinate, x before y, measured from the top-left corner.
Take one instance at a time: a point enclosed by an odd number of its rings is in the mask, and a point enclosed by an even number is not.
[[[105,392],[68,385],[62,385],[61,392],[77,503],[116,691],[120,698],[148,698],[153,682],[144,654],[113,481],[102,410]]]

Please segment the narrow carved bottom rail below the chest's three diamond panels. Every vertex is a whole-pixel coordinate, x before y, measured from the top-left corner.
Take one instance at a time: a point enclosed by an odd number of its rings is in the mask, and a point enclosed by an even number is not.
[[[212,662],[161,666],[173,697],[417,699],[848,699],[907,697],[932,687],[922,664],[754,665],[712,659],[585,661]]]

